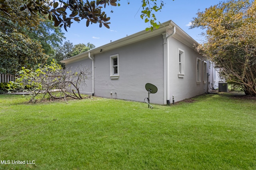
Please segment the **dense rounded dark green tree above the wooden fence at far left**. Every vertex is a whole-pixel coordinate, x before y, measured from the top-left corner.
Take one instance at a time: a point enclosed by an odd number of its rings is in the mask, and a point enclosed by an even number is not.
[[[15,74],[22,66],[33,68],[46,62],[48,56],[40,43],[20,33],[16,23],[0,19],[0,72]]]

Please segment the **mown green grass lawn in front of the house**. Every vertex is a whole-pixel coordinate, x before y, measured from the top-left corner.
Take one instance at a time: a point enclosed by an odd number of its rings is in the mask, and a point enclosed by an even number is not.
[[[10,160],[0,169],[256,169],[256,100],[222,93],[153,106],[0,95],[0,160]]]

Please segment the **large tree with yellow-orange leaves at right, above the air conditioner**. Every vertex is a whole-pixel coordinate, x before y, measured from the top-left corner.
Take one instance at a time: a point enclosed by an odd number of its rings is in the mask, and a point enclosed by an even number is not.
[[[229,0],[198,12],[193,27],[206,29],[197,50],[209,57],[229,81],[256,95],[256,2]]]

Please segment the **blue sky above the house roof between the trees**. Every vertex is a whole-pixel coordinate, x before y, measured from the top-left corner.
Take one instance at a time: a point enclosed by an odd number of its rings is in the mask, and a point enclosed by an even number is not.
[[[181,29],[183,29],[188,35],[200,42],[201,29],[189,29],[189,23],[196,17],[196,13],[204,11],[205,8],[209,8],[212,5],[218,4],[220,0],[163,0],[164,8],[161,12],[155,12],[158,21],[165,22],[168,20],[174,21]],[[130,2],[130,4],[128,4]],[[158,0],[160,2],[160,0]],[[81,20],[80,23],[74,22],[71,27],[68,28],[68,32],[63,29],[66,39],[64,41],[70,41],[73,45],[78,43],[92,43],[96,47],[100,47],[110,40],[116,41],[127,35],[132,35],[139,31],[144,30],[150,26],[148,23],[144,23],[144,20],[140,18],[141,0],[121,0],[121,6],[113,7],[107,6],[102,10],[106,12],[110,17],[110,29],[99,24],[90,24],[86,27],[86,20]],[[113,13],[110,11],[113,10]]]

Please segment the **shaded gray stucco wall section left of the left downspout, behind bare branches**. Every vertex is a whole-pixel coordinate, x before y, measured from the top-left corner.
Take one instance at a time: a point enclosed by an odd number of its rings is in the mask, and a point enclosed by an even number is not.
[[[89,68],[88,72],[92,73],[92,60],[90,59],[84,59],[82,61],[76,61],[74,63],[70,63],[70,64],[66,64],[66,69],[68,70],[70,68],[70,70],[72,70],[72,72],[77,71],[77,67],[85,67],[85,68]],[[92,95],[92,74],[90,74],[90,76],[88,77],[88,79],[85,81],[86,86],[84,86],[83,84],[80,84],[79,86],[79,90],[81,94],[89,94]]]

